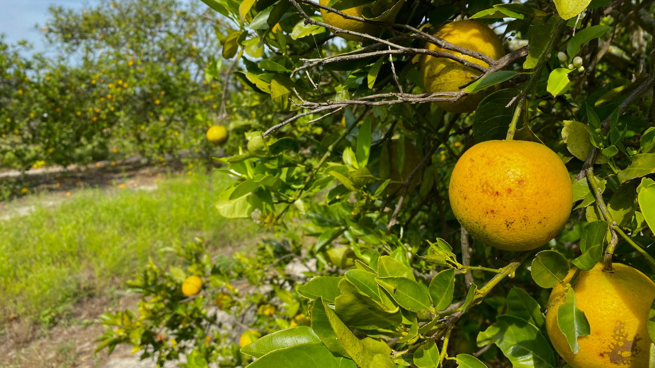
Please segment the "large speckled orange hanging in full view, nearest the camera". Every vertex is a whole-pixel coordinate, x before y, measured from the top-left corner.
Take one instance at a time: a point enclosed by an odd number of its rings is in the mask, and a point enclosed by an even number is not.
[[[449,197],[455,217],[489,246],[524,251],[564,227],[573,187],[562,160],[530,141],[477,143],[457,161]]]

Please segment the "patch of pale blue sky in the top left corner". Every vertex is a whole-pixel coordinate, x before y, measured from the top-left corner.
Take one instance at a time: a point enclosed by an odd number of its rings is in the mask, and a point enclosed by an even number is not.
[[[34,45],[35,51],[45,50],[41,31],[35,24],[43,26],[48,18],[50,5],[62,5],[71,9],[81,9],[84,5],[98,1],[80,0],[0,0],[0,33],[5,33],[9,43],[26,39]]]

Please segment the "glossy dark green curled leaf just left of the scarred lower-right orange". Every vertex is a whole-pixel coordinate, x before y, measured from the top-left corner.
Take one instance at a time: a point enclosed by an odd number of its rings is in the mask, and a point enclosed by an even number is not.
[[[514,368],[555,368],[548,340],[532,323],[514,316],[497,316],[495,325],[477,335],[477,346],[494,343]]]

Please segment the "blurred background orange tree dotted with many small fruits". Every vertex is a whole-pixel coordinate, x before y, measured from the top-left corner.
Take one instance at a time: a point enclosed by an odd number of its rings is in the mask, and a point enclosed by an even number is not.
[[[214,58],[215,35],[226,28],[196,3],[52,7],[39,28],[49,54],[27,56],[29,45],[0,40],[2,166],[29,170],[134,154],[159,162],[186,151],[209,159],[215,152],[206,130],[229,124],[225,117],[241,103],[231,100],[229,65]]]

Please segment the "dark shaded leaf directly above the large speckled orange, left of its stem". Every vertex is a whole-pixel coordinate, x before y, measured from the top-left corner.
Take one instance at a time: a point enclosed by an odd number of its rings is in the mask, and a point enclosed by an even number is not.
[[[480,102],[473,121],[473,138],[476,143],[505,139],[515,107],[506,106],[518,94],[519,90],[507,88],[493,92]]]

